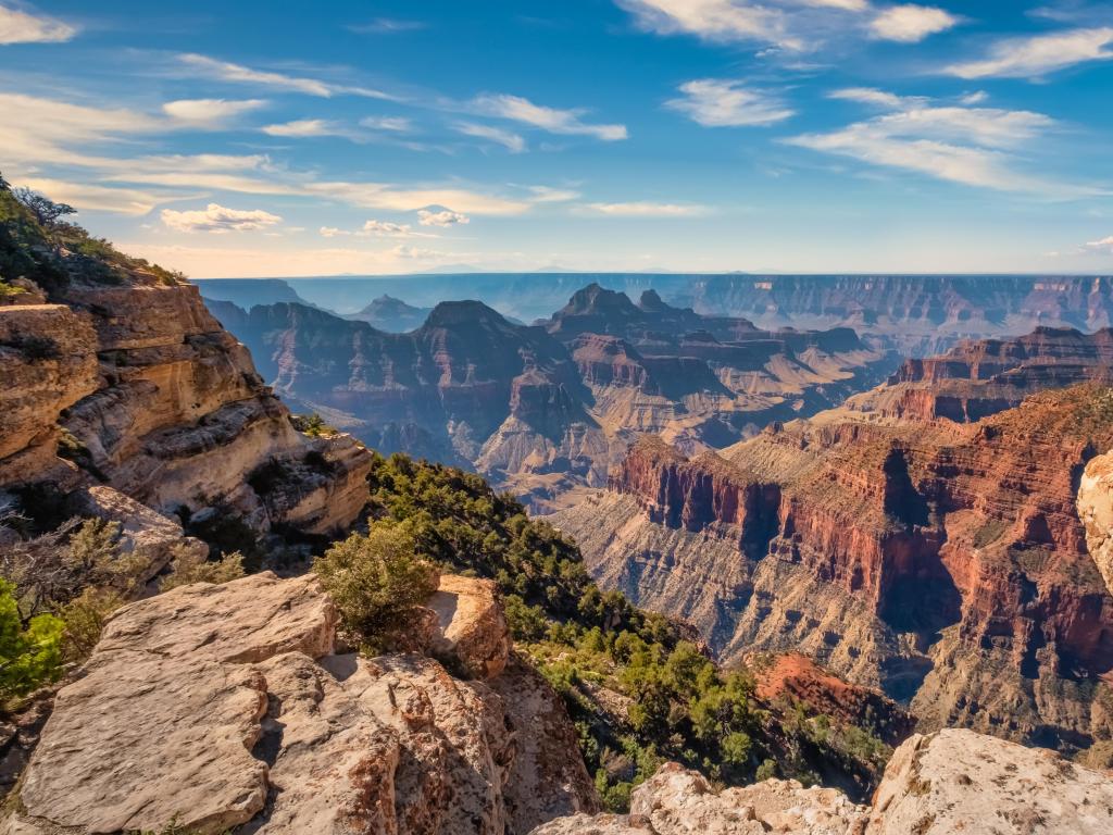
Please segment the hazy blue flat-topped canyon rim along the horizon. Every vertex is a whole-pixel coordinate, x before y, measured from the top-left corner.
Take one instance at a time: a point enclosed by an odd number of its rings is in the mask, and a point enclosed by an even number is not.
[[[525,322],[549,316],[589,282],[631,298],[653,289],[674,306],[745,317],[762,328],[851,327],[867,342],[908,356],[1040,325],[1095,331],[1113,324],[1109,276],[500,273],[423,276],[420,283],[377,276],[287,279],[304,298],[342,313],[387,293],[427,307],[446,298],[475,298]],[[209,281],[203,287],[208,293],[225,284]],[[250,304],[273,303],[262,301],[262,293],[252,298]]]

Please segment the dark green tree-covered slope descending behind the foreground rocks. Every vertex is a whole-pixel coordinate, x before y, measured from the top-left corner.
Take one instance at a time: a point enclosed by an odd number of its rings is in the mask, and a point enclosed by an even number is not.
[[[564,698],[611,808],[670,759],[725,784],[823,778],[858,796],[879,776],[889,749],[868,731],[802,701],[762,703],[749,671],[719,669],[683,626],[601,591],[574,543],[479,475],[393,455],[376,456],[370,482],[373,539],[404,536],[418,557],[498,582],[519,649]]]

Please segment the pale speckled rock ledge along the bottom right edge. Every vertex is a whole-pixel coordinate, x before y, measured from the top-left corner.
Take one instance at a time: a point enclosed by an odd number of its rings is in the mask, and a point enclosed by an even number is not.
[[[1100,835],[1113,831],[1113,778],[1047,750],[968,730],[915,736],[885,770],[871,807],[829,788],[770,779],[717,792],[663,766],[630,815],[577,815],[533,835]]]

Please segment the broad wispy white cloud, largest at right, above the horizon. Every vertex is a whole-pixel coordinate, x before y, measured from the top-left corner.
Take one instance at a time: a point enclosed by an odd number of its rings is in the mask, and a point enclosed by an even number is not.
[[[853,97],[847,97],[853,98]],[[885,96],[861,97],[881,104]],[[897,98],[895,112],[855,122],[829,134],[807,134],[787,141],[812,150],[853,157],[938,179],[1050,197],[1096,191],[1053,183],[1017,170],[1009,149],[1054,126],[1043,114],[997,108],[937,107],[923,99]]]

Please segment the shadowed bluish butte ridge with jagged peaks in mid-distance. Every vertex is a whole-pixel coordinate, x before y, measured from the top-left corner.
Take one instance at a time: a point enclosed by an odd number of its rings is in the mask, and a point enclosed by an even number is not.
[[[542,325],[445,302],[388,334],[301,305],[217,307],[287,400],[384,451],[470,465],[534,508],[601,487],[626,445],[688,451],[840,402],[894,357],[847,328],[765,332],[598,285]]]

